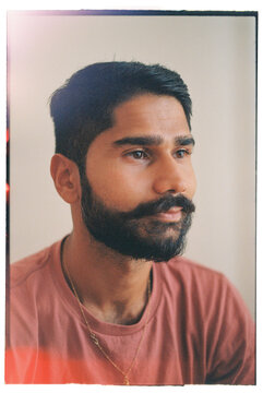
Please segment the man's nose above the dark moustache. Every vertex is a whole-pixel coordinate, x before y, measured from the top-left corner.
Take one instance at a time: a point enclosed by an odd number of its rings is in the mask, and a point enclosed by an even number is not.
[[[163,159],[156,164],[155,178],[153,182],[154,192],[183,193],[188,188],[188,174],[182,164],[179,164],[174,157]]]

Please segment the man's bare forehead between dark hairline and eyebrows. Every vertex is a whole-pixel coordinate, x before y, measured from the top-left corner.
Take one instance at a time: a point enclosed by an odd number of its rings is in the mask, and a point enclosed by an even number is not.
[[[118,140],[135,136],[155,136],[174,143],[175,138],[190,134],[182,105],[170,96],[135,96],[115,108],[112,120],[112,127],[98,134],[92,145],[107,148]]]

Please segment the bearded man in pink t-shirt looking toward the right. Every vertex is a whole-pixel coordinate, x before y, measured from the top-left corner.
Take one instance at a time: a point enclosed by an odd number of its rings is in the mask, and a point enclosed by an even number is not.
[[[7,382],[253,384],[240,296],[179,257],[195,191],[180,75],[96,63],[50,107],[51,176],[73,230],[12,266]]]

